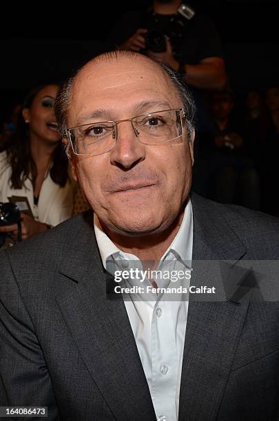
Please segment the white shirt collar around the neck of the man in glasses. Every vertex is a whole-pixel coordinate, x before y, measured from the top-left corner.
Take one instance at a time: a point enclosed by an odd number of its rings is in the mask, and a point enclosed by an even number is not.
[[[116,247],[112,240],[107,237],[104,233],[99,218],[94,213],[94,230],[96,235],[96,241],[99,247],[101,259],[104,268],[107,267],[107,259],[116,253],[118,255],[125,255],[134,257],[129,253],[123,253]],[[192,202],[189,199],[185,207],[183,222],[176,234],[176,237],[172,241],[172,244],[164,253],[162,260],[167,257],[170,251],[174,251],[182,261],[192,261],[192,248],[193,248],[193,216],[192,216]],[[137,259],[134,257],[134,259]]]

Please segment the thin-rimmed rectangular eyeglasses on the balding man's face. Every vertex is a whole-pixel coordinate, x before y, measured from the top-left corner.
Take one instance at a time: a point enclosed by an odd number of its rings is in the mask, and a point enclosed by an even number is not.
[[[183,142],[185,111],[165,109],[118,121],[91,122],[65,129],[72,150],[76,155],[101,155],[111,151],[117,140],[118,123],[130,121],[134,134],[143,144],[164,144]]]

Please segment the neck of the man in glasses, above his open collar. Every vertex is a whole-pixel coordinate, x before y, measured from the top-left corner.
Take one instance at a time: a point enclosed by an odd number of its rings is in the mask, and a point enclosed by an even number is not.
[[[174,222],[164,230],[163,233],[145,235],[141,237],[129,237],[116,233],[106,226],[103,226],[103,231],[107,237],[110,237],[112,242],[120,250],[126,253],[135,255],[142,262],[154,261],[157,262],[164,255],[178,233],[178,230],[183,222],[184,208],[178,214]],[[101,223],[101,221],[100,221]]]

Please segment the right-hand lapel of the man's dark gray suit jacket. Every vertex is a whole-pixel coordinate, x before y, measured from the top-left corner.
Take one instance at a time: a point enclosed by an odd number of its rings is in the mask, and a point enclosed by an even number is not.
[[[218,261],[226,259],[236,263],[246,250],[214,205],[206,209],[205,202],[195,195],[192,204],[194,269],[191,285],[216,286],[218,301],[214,302],[213,296],[198,301],[199,297],[196,299],[190,294],[179,419],[215,420],[249,306],[247,299],[241,303],[226,299],[225,280]],[[206,270],[207,266],[201,261],[208,261],[210,270]],[[224,299],[220,301],[222,294]]]

